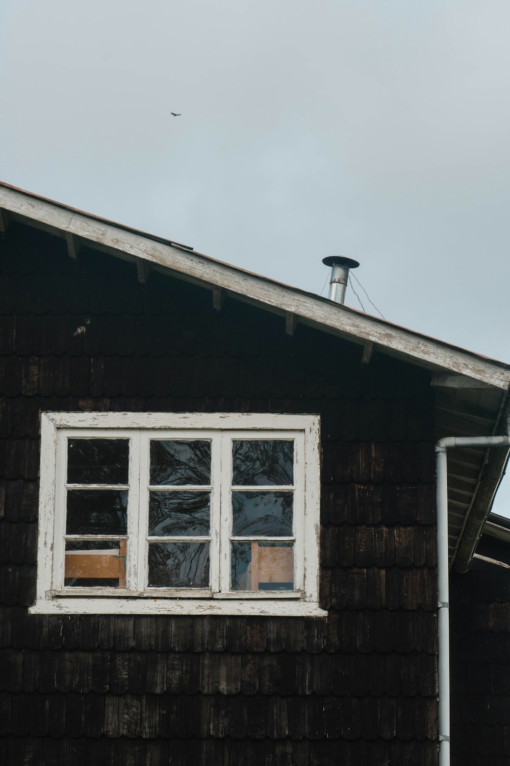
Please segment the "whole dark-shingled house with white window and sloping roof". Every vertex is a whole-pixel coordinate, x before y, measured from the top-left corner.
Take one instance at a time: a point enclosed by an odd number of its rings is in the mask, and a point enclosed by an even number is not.
[[[0,213],[0,761],[436,764],[434,444],[507,434],[510,366],[6,184]],[[508,604],[497,699],[459,670],[507,459],[447,458],[454,764],[510,755]]]

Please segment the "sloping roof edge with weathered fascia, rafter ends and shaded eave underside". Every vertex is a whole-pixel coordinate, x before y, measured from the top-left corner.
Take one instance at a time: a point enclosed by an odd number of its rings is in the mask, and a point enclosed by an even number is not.
[[[0,182],[0,230],[21,221],[64,237],[70,255],[82,244],[135,261],[146,270],[172,273],[213,291],[362,345],[368,362],[378,351],[430,369],[437,387],[436,436],[489,436],[502,430],[510,365],[343,306],[327,298],[223,263],[184,244],[107,221]],[[503,431],[505,432],[505,431]],[[449,455],[450,560],[469,566],[495,491],[505,470],[505,450],[452,450]]]

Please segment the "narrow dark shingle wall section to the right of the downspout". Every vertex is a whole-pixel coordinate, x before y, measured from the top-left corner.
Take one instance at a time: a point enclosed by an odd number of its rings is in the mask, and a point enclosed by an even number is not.
[[[486,554],[491,547],[497,550],[498,542],[494,543],[484,545]],[[452,763],[506,766],[510,762],[510,570],[475,560],[466,575],[452,575],[450,591]]]

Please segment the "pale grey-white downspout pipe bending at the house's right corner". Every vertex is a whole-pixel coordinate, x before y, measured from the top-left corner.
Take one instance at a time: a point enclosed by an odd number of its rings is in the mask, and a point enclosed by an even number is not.
[[[437,728],[439,766],[450,766],[450,615],[448,588],[447,450],[453,447],[510,447],[508,436],[444,437],[437,442]]]

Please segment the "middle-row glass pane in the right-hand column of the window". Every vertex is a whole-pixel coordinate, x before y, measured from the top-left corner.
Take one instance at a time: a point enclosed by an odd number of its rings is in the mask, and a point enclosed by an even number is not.
[[[292,492],[232,492],[232,535],[291,537]]]

